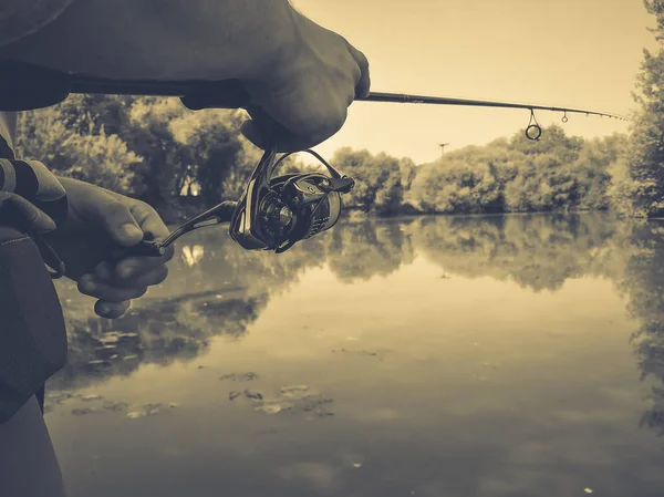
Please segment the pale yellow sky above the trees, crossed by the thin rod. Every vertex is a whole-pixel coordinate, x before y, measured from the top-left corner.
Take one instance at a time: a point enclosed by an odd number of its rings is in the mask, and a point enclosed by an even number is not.
[[[641,0],[292,0],[370,61],[372,91],[581,107],[634,108],[643,49],[656,49]],[[591,138],[627,123],[539,111],[544,127]],[[314,149],[350,146],[416,164],[512,136],[528,110],[354,102],[344,127]],[[523,138],[526,139],[526,138]],[[304,158],[304,157],[302,157]]]

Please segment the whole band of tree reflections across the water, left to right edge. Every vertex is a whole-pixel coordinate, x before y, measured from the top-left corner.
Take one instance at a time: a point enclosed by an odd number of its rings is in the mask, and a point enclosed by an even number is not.
[[[557,292],[583,277],[610,280],[641,323],[632,343],[642,379],[664,382],[664,228],[583,214],[345,222],[279,256],[245,251],[224,230],[193,234],[178,246],[168,280],[122,319],[95,318],[91,299],[58,282],[71,352],[49,389],[129,375],[147,363],[191,361],[215,336],[242,340],[269,300],[308,270],[326,267],[350,286],[393,275],[418,257],[446,277],[489,277],[532,292]],[[664,434],[661,386],[653,386],[642,424]]]

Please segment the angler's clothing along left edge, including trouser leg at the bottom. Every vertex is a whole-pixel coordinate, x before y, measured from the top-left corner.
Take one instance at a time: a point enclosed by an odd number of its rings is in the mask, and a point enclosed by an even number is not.
[[[3,217],[14,208],[29,228],[38,207],[19,193],[64,189],[43,164],[17,161],[14,144],[15,115],[0,113],[0,496],[65,497],[43,418],[44,383],[66,361],[64,317],[38,246]]]

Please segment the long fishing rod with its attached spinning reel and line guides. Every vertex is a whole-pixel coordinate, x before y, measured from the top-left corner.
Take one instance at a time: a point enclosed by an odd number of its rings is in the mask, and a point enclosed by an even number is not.
[[[238,80],[211,81],[147,81],[111,80],[79,73],[68,73],[18,61],[0,60],[0,111],[18,112],[55,105],[71,93],[153,95],[179,97],[193,111],[204,108],[248,108],[251,97]],[[453,99],[400,93],[371,92],[356,97],[365,102],[465,105],[481,107],[525,108],[530,111],[526,137],[537,141],[542,128],[535,111],[598,115],[627,121],[626,117],[606,112],[583,108],[544,106],[526,103]],[[276,124],[274,124],[276,126]],[[120,251],[116,259],[127,256],[159,257],[180,236],[206,226],[230,222],[229,235],[247,250],[272,250],[283,252],[295,242],[311,238],[332,228],[341,216],[341,195],[353,188],[355,180],[342,175],[311,149],[301,151],[313,155],[328,169],[322,173],[286,174],[274,176],[276,169],[294,152],[277,156],[276,127],[263,130],[264,153],[253,169],[247,187],[238,201],[225,201],[188,220],[160,241],[144,239],[127,250]],[[48,214],[48,213],[46,213]],[[52,250],[51,250],[52,252]],[[55,257],[59,273],[64,272],[62,261]],[[52,267],[55,267],[51,265]]]

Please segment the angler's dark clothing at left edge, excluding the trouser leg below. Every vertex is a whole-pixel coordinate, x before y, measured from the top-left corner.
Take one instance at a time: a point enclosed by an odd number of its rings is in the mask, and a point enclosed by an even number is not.
[[[66,217],[66,194],[43,164],[15,158],[11,117],[0,113],[0,423],[34,394],[43,405],[43,383],[66,360],[62,309],[32,238],[55,226],[44,206]]]

